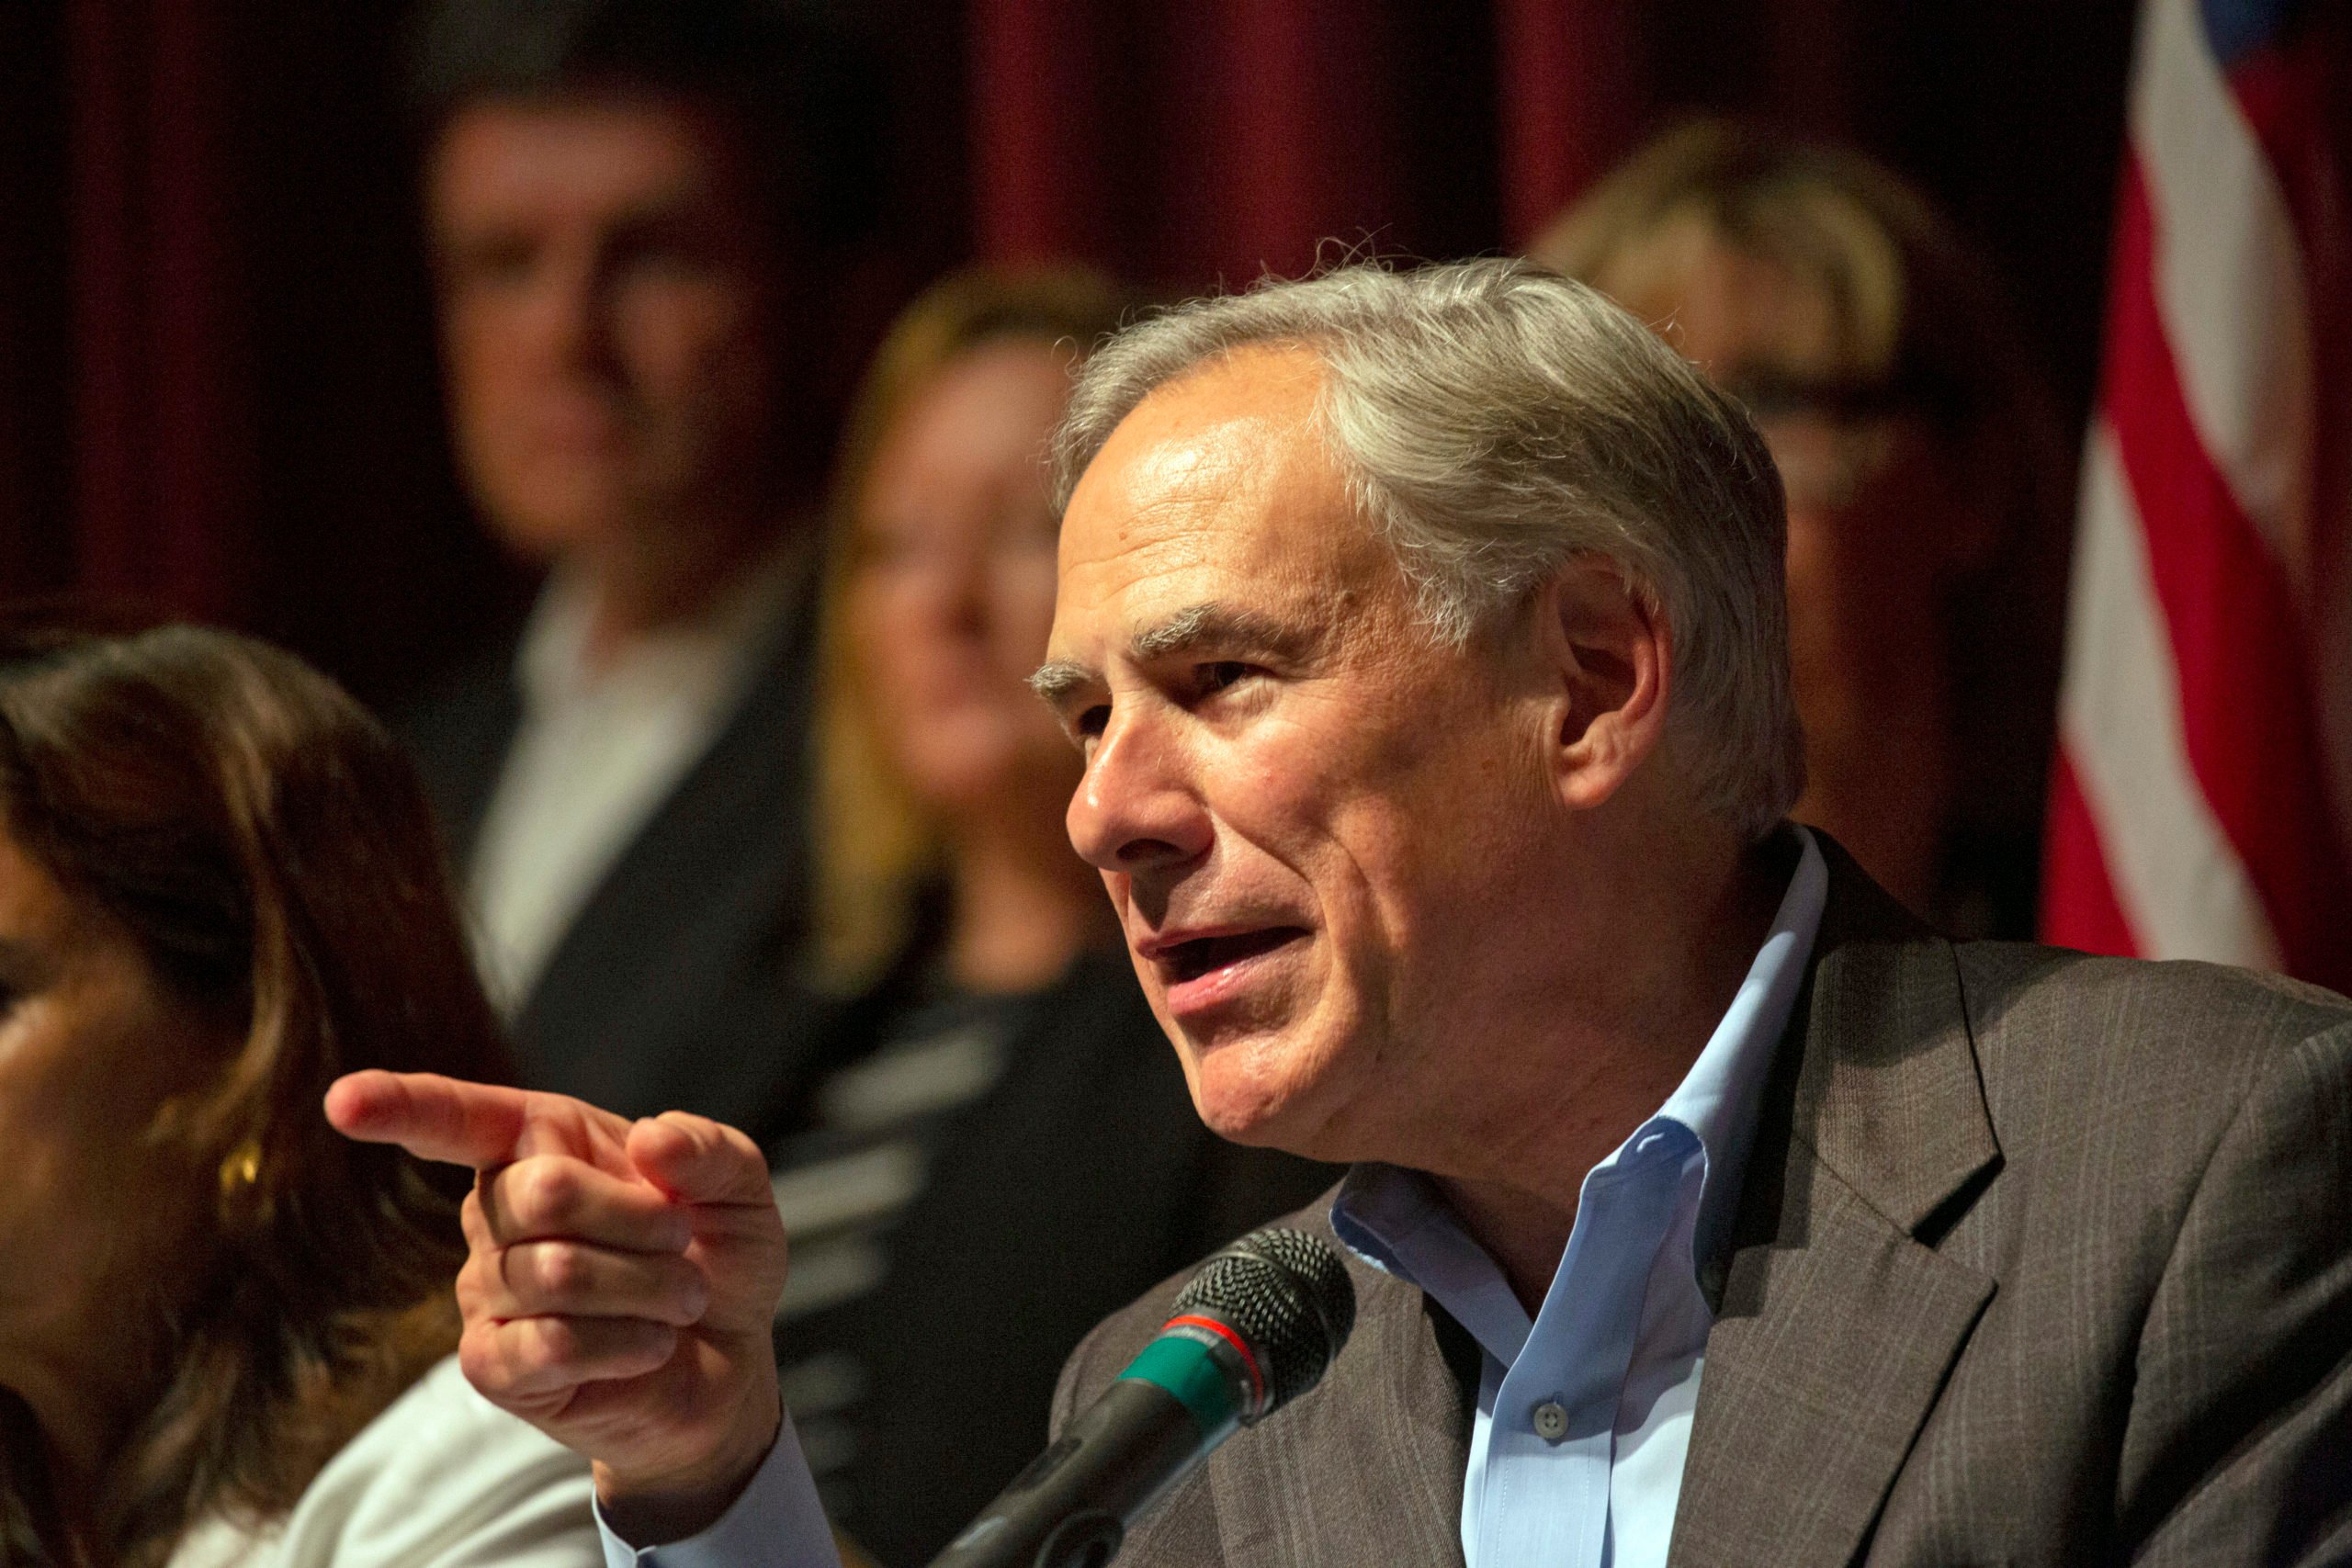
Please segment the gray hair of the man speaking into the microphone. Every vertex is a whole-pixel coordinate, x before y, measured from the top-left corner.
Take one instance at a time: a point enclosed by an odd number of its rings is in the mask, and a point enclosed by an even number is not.
[[[1526,261],[1343,266],[1195,299],[1080,369],[1054,496],[1155,388],[1249,346],[1312,348],[1357,508],[1454,646],[1599,555],[1675,637],[1668,733],[1700,804],[1762,837],[1804,788],[1780,475],[1748,414],[1595,289]]]

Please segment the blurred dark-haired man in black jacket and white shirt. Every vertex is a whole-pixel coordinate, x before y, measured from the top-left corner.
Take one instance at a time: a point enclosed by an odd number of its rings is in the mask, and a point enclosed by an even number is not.
[[[454,0],[419,33],[454,447],[548,569],[409,738],[532,1084],[767,1131],[821,1006],[804,731],[816,136],[776,7]]]

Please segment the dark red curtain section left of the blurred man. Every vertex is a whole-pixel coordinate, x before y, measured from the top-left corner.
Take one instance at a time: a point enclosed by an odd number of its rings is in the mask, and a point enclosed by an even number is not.
[[[54,136],[0,165],[47,237],[0,277],[54,317],[0,310],[0,597],[238,625],[390,701],[515,599],[440,430],[402,16],[68,0],[0,33],[7,113]]]

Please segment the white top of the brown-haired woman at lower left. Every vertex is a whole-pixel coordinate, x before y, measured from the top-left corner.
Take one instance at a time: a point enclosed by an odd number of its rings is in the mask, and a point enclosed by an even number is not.
[[[602,1568],[588,1462],[473,1392],[456,1356],[367,1422],[263,1530],[191,1530],[167,1568]]]

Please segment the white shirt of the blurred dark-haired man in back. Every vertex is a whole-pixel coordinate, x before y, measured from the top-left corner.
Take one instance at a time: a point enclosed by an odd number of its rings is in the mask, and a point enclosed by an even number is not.
[[[590,668],[586,583],[557,574],[515,654],[522,724],[468,867],[475,959],[513,1016],[581,905],[710,750],[764,632],[800,576],[783,550],[696,621],[633,639]]]

